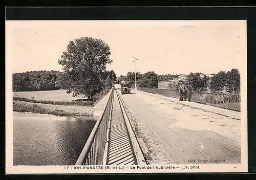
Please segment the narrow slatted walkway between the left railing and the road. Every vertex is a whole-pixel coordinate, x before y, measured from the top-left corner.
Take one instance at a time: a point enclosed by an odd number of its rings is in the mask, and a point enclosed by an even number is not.
[[[117,92],[114,92],[106,165],[138,164]]]

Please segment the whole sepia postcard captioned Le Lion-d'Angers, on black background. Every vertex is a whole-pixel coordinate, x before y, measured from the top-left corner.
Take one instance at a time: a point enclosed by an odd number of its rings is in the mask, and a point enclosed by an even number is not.
[[[247,172],[246,20],[7,20],[6,173]]]

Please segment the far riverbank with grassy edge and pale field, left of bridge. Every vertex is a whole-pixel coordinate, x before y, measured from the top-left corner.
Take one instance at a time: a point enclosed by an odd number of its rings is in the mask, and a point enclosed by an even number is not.
[[[109,89],[103,89],[95,95],[96,101],[75,98],[66,94],[66,90],[44,92],[13,92],[13,111],[57,116],[94,116],[93,106],[99,102],[104,104]],[[66,100],[66,101],[63,101]],[[103,101],[102,101],[103,100]],[[99,108],[99,107],[98,107]]]

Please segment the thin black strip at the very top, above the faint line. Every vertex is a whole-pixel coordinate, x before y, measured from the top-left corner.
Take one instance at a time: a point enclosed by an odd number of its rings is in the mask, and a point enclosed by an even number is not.
[[[172,0],[172,1],[161,1],[161,0],[141,0],[141,1],[120,1],[120,0],[97,0],[97,1],[79,1],[69,0],[62,1],[44,1],[44,0],[8,0],[6,6],[30,6],[36,7],[38,5],[46,5],[48,7],[61,7],[61,6],[104,6],[104,7],[125,7],[125,6],[252,6],[253,2],[249,0],[215,0],[215,1],[205,1],[205,0]],[[255,5],[256,3],[254,3]]]

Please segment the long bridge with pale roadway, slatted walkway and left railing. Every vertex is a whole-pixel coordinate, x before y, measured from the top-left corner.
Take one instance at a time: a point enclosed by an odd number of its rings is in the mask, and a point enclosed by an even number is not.
[[[199,95],[181,102],[175,92],[138,88],[121,95],[119,88],[111,90],[76,165],[241,163],[240,97],[223,95],[233,104],[200,102]]]

